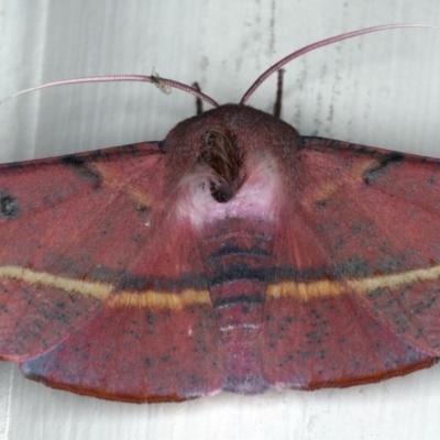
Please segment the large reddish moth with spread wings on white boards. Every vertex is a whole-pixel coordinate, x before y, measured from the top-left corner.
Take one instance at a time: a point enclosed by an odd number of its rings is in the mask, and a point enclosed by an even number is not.
[[[244,105],[302,53],[397,26],[297,51],[239,105],[130,77],[217,108],[163,142],[2,165],[0,359],[140,403],[343,387],[437,362],[440,161],[301,136],[279,106]]]

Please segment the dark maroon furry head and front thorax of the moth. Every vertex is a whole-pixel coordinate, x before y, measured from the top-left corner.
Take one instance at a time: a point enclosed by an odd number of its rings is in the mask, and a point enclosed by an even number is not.
[[[292,154],[297,136],[290,125],[246,106],[222,106],[190,118],[166,140],[168,188],[197,185],[217,202],[229,202],[260,164],[282,158],[283,148]]]

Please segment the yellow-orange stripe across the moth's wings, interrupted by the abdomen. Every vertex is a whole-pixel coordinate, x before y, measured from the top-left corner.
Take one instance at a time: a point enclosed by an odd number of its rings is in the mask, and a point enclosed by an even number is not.
[[[338,296],[348,293],[367,294],[378,288],[394,289],[415,283],[440,278],[440,266],[419,268],[398,274],[378,275],[358,279],[315,280],[308,283],[280,282],[267,286],[267,299],[295,298],[308,300],[317,297]],[[114,284],[98,280],[80,280],[37,272],[20,266],[0,266],[0,280],[15,279],[30,285],[57,288],[66,293],[78,293],[106,301],[109,307],[144,307],[182,309],[196,304],[210,304],[207,289],[189,288],[179,293],[122,290],[111,295]]]

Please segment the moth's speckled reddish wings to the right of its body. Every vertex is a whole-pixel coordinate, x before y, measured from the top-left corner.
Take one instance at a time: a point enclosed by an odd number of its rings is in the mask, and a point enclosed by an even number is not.
[[[274,246],[287,260],[276,260],[265,306],[270,382],[346,386],[431,364],[439,161],[305,138],[299,162]]]

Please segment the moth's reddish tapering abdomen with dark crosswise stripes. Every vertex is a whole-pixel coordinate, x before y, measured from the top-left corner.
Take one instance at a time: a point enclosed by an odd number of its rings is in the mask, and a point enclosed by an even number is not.
[[[246,228],[238,224],[243,222]],[[261,375],[257,337],[272,244],[271,227],[243,219],[227,219],[204,233],[201,252],[209,292],[228,356],[223,389],[254,394],[267,388]]]

